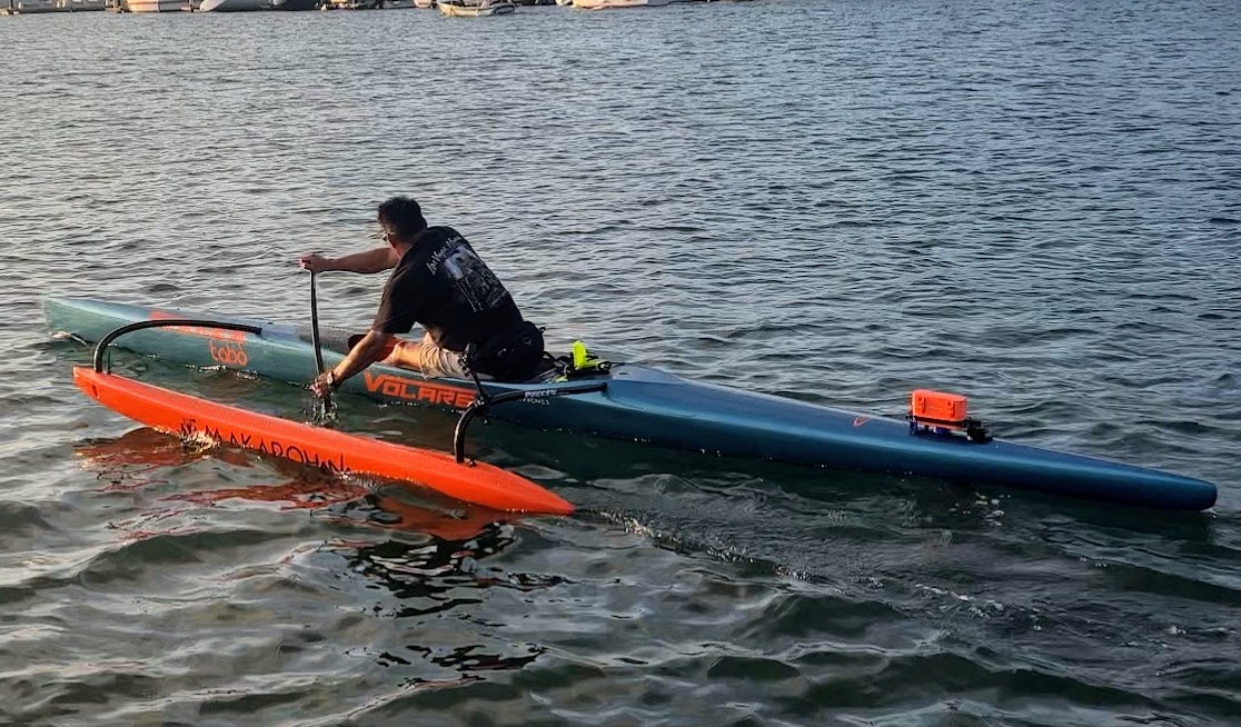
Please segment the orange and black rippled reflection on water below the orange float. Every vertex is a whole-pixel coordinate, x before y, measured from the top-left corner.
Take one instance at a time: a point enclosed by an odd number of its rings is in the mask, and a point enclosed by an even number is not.
[[[257,459],[246,453],[202,449],[146,428],[79,443],[76,452],[102,481],[108,483],[101,496],[148,493],[140,500],[144,507],[113,522],[114,531],[120,533],[118,542],[109,546],[109,550],[120,546],[118,555],[110,556],[113,561],[159,562],[160,551],[187,543],[195,536],[211,538],[212,530],[221,529],[225,521],[242,519],[244,512],[228,511],[230,505],[248,504],[272,506],[273,512],[285,516],[308,514],[330,531],[349,531],[349,535],[300,545],[280,557],[280,567],[298,572],[299,563],[328,563],[330,572],[338,574],[331,579],[346,576],[362,587],[350,602],[362,604],[374,599],[369,609],[371,618],[455,615],[477,620],[478,627],[485,628],[486,622],[475,619],[470,609],[483,603],[489,591],[524,593],[563,582],[555,574],[489,564],[519,541],[513,514],[448,500],[419,500],[421,491],[408,488],[330,478],[278,459],[256,468]],[[220,459],[218,454],[228,457]],[[256,469],[269,473],[268,464],[300,470],[300,476],[276,484],[221,486],[226,473],[208,469],[207,476],[200,478],[215,479],[207,486],[181,491],[174,484],[195,479],[185,470],[196,465],[227,465],[256,475],[259,474],[253,471]],[[328,561],[320,561],[324,557]],[[114,566],[92,568],[102,577]],[[248,571],[252,568],[242,569]],[[480,672],[520,670],[544,651],[536,644],[496,644],[483,638],[444,646],[413,635],[390,639],[352,654],[408,672],[400,680],[401,689],[421,691],[477,682],[483,679]],[[446,671],[457,676],[447,677]]]

